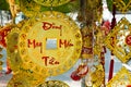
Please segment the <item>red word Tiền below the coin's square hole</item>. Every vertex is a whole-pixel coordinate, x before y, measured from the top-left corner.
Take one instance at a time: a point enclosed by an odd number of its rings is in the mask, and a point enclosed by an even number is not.
[[[45,63],[46,66],[60,64],[60,63],[59,63],[58,61],[56,61],[56,59],[52,58],[52,57],[43,57],[41,59],[44,60],[44,63]]]

